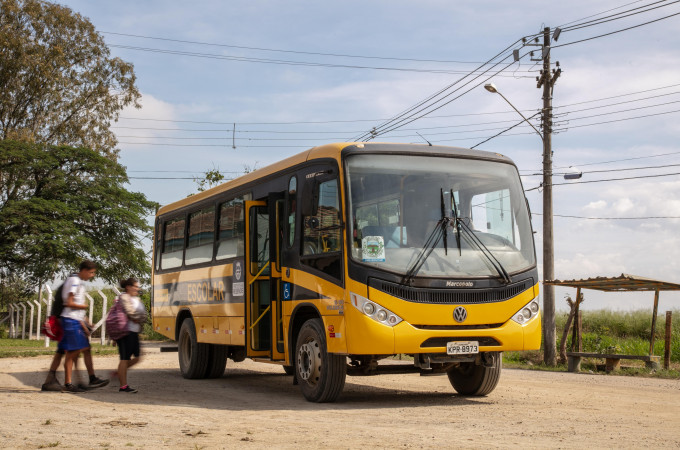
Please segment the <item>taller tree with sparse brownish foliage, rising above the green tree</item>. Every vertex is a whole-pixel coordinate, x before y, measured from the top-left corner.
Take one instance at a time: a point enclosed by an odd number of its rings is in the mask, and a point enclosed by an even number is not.
[[[87,147],[112,158],[110,130],[140,107],[132,64],[89,20],[39,0],[0,0],[0,139]]]

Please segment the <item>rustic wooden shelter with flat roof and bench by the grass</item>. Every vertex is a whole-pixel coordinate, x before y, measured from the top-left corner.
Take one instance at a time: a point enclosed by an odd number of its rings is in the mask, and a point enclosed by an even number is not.
[[[656,332],[656,316],[659,309],[659,292],[680,291],[680,284],[627,274],[621,274],[621,276],[618,277],[596,277],[582,280],[550,280],[544,282],[544,284],[576,288],[576,299],[580,298],[582,289],[595,289],[604,292],[654,291],[654,309],[652,312],[652,330],[649,338],[649,355],[604,355],[571,351],[567,353],[567,356],[569,358],[570,371],[579,370],[582,357],[605,358],[607,360],[607,370],[617,368],[621,359],[641,359],[644,360],[648,366],[658,367],[660,357],[654,356],[654,334]],[[576,317],[578,317],[578,309],[579,304],[576,302]],[[578,333],[580,333],[580,329],[578,330]],[[580,334],[577,337],[580,342]]]

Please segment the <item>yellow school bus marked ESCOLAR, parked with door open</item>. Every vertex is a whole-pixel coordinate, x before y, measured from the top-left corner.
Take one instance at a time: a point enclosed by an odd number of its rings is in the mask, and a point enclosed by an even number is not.
[[[185,378],[251,358],[312,402],[380,373],[487,395],[503,351],[540,346],[527,201],[497,153],[314,147],[161,208],[153,255],[153,326]]]

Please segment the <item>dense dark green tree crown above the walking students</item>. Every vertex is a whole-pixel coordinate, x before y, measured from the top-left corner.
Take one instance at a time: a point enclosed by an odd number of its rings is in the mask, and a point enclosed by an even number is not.
[[[110,282],[148,278],[141,239],[157,204],[127,181],[94,150],[0,141],[0,278],[36,286],[83,259]]]

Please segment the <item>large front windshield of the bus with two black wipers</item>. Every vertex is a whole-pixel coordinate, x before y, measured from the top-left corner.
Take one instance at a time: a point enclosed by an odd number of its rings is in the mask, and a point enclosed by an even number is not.
[[[350,155],[346,171],[354,261],[402,275],[417,266],[409,275],[447,278],[499,277],[535,265],[511,164],[365,154]]]

